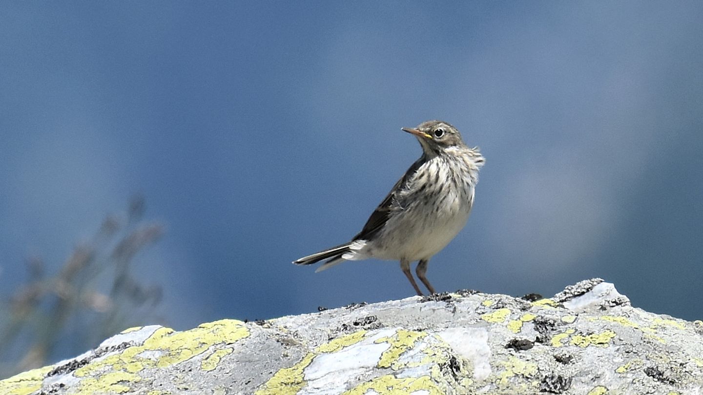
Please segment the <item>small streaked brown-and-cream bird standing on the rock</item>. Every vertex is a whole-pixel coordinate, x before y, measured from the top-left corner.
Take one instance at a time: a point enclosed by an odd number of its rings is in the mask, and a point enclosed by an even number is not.
[[[465,226],[474,205],[479,169],[485,159],[478,147],[468,147],[451,124],[431,120],[401,128],[415,136],[423,154],[395,183],[351,241],[293,261],[297,265],[328,259],[316,272],[361,259],[400,261],[415,292],[422,296],[410,265],[430,294],[427,264]]]

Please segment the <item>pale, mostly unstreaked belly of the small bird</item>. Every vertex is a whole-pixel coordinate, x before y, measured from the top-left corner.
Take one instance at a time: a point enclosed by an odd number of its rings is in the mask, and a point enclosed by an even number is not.
[[[437,212],[427,207],[408,207],[404,215],[389,219],[385,235],[373,246],[373,256],[378,259],[430,259],[446,247],[465,226],[471,211],[469,199],[456,197],[445,201]]]

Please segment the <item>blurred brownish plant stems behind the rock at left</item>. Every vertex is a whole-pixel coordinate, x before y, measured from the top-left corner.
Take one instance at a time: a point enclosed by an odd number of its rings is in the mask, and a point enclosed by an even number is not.
[[[153,315],[161,287],[142,285],[130,269],[164,227],[143,212],[134,197],[126,215],[108,215],[53,276],[39,257],[27,259],[27,283],[0,304],[0,378],[46,365],[59,347],[77,355]]]

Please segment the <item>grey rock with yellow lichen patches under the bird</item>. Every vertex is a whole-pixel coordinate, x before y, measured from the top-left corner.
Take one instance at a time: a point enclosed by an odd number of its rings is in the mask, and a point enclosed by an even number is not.
[[[537,298],[460,291],[183,332],[131,328],[0,381],[0,394],[703,392],[701,321],[633,308],[598,278]]]

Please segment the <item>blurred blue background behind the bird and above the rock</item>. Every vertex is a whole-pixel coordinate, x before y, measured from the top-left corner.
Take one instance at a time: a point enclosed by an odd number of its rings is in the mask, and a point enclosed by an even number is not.
[[[703,4],[4,2],[0,377],[134,325],[413,295],[349,240],[444,119],[486,156],[441,291],[591,277],[703,318]]]

